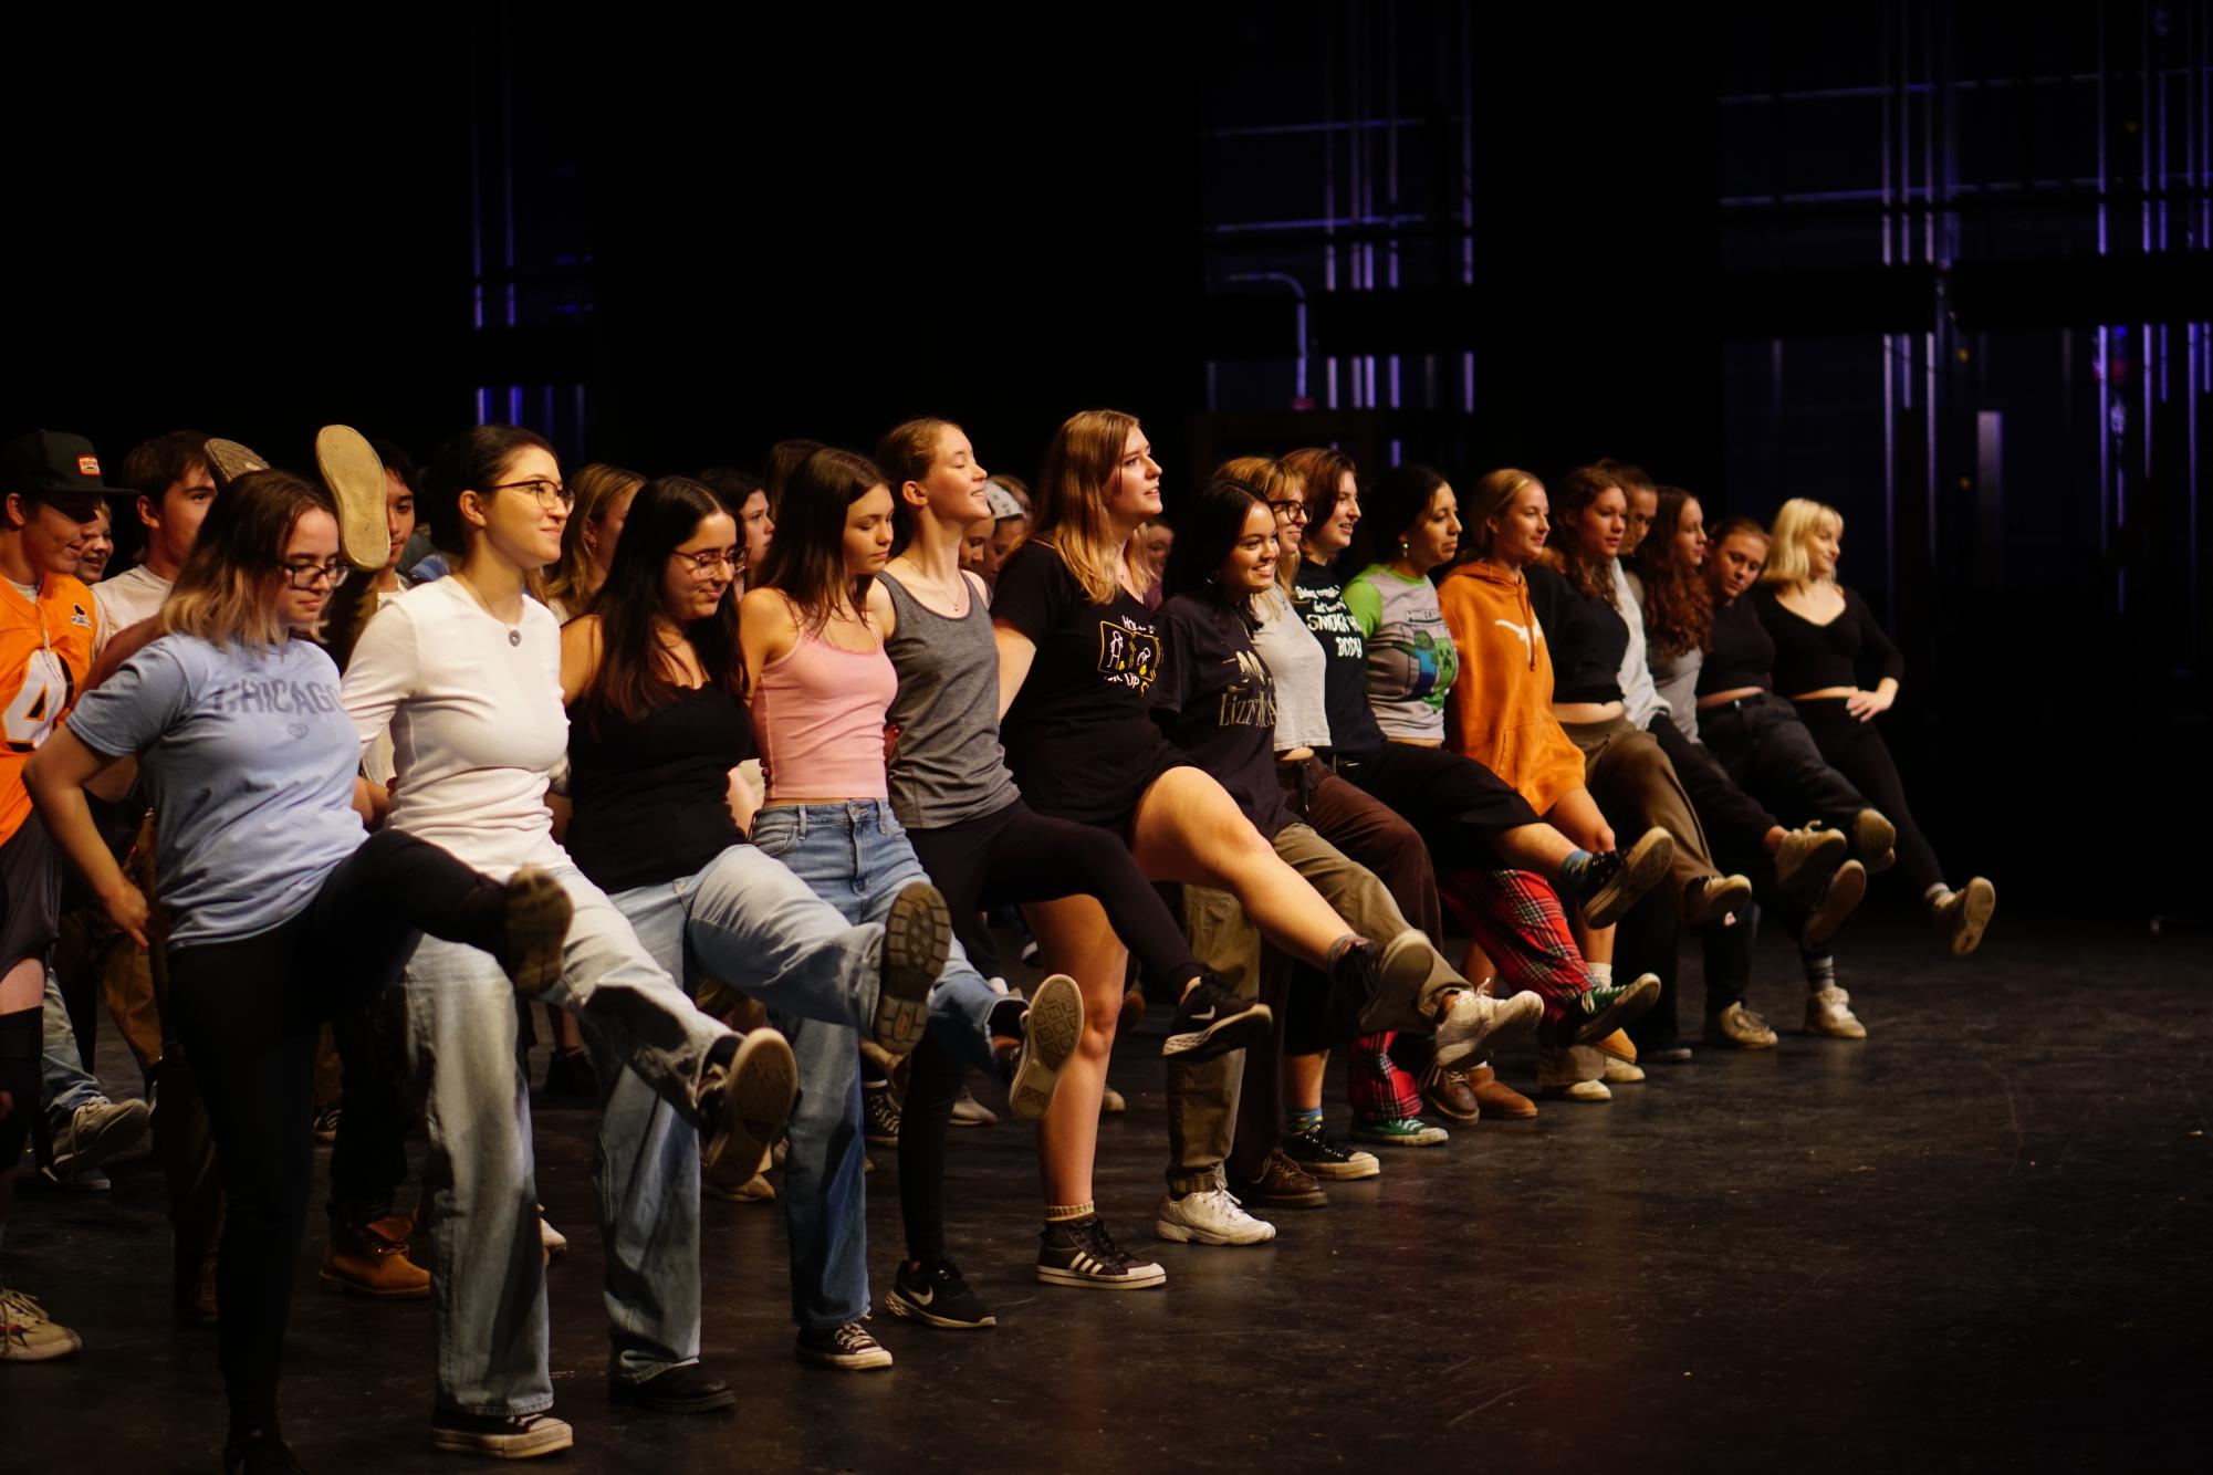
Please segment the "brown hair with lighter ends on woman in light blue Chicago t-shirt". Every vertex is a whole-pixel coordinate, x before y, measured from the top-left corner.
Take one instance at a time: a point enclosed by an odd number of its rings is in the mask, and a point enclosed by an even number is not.
[[[283,544],[316,511],[339,515],[328,491],[290,471],[248,471],[224,487],[162,604],[162,635],[257,650],[281,646],[290,635],[277,613]]]

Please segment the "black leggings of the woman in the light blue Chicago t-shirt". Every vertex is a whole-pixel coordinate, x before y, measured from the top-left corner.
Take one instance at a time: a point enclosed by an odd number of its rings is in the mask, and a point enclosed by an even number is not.
[[[168,951],[168,1011],[208,1103],[224,1179],[215,1267],[232,1431],[270,1429],[314,1170],[314,1044],[398,982],[423,931],[496,946],[502,887],[392,829],[263,933]],[[352,1101],[347,1101],[352,1115]]]

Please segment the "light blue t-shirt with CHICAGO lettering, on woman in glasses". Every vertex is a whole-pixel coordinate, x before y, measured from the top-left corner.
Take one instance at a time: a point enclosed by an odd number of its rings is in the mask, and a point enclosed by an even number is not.
[[[290,920],[365,838],[361,739],[339,668],[308,641],[254,650],[164,635],[80,697],[69,730],[139,756],[170,946]]]

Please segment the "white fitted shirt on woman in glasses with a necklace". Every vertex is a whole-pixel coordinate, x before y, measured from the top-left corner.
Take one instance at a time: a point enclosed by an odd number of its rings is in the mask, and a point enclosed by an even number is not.
[[[456,579],[383,597],[345,668],[345,712],[363,750],[392,725],[394,829],[480,871],[567,858],[544,803],[569,750],[560,624],[536,599],[509,628]]]

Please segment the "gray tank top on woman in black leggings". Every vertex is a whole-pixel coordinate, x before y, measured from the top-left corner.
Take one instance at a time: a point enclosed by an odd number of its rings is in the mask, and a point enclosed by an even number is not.
[[[881,575],[898,628],[885,641],[898,697],[890,723],[892,814],[910,829],[941,829],[1005,809],[1020,798],[998,745],[998,644],[976,586],[967,615],[925,608],[896,577]]]

